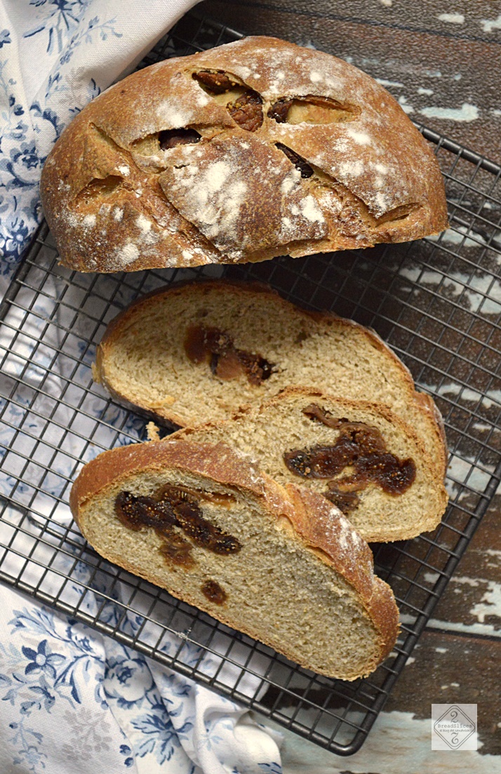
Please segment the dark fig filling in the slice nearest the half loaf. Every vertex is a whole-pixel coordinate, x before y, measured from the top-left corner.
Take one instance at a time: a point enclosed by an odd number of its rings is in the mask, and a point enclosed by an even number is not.
[[[218,328],[190,326],[184,351],[192,363],[209,363],[212,374],[225,382],[245,375],[250,384],[260,385],[273,373],[273,363],[260,354],[235,348],[232,337]]]

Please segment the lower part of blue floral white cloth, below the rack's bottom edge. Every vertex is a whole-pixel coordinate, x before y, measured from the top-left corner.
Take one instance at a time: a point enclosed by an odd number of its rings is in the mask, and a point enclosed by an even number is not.
[[[5,601],[19,597],[5,589]],[[276,735],[232,702],[50,609],[12,614],[0,642],[0,770],[72,774],[78,750],[75,772],[160,774],[168,763],[172,774],[281,774]]]

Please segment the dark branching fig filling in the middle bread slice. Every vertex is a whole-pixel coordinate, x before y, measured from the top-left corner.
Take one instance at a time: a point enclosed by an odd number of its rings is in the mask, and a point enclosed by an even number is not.
[[[316,404],[307,406],[303,413],[311,420],[339,430],[335,444],[317,445],[310,449],[294,449],[283,455],[283,461],[294,475],[301,478],[325,478],[328,481],[324,496],[343,512],[351,512],[359,505],[357,491],[376,484],[388,495],[402,495],[416,478],[412,459],[400,460],[391,454],[376,427],[363,422],[337,419]],[[340,474],[345,468],[348,474]]]

